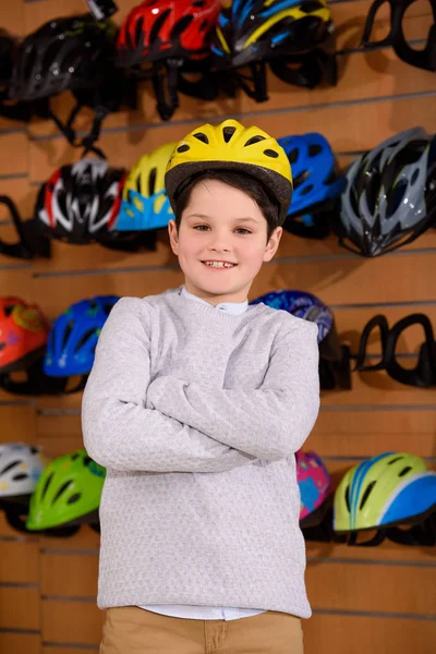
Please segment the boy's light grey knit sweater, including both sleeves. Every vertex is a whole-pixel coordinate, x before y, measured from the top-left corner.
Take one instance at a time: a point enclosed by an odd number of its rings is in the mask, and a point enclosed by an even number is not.
[[[83,397],[100,505],[100,608],[187,604],[308,617],[293,453],[319,405],[317,328],[179,289],[123,298]]]

